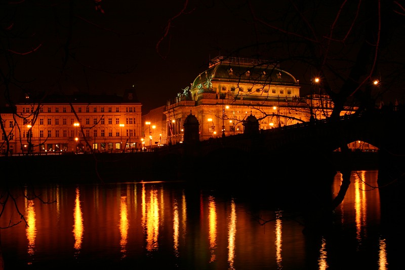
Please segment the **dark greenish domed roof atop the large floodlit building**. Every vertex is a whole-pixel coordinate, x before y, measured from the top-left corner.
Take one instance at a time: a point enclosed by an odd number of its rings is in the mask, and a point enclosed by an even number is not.
[[[287,71],[278,68],[273,62],[247,59],[217,57],[211,66],[195,78],[192,88],[211,82],[234,82],[255,84],[294,85],[297,80]]]

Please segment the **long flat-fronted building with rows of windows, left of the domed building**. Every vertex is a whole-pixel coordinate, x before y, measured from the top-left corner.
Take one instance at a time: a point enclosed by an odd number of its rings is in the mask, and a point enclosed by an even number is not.
[[[0,149],[12,153],[133,151],[141,143],[141,107],[135,90],[117,95],[31,96],[2,113]]]

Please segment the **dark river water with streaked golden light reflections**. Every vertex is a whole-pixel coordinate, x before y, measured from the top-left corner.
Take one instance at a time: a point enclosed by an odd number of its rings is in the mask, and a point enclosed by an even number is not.
[[[9,198],[1,225],[21,221],[21,213],[28,226],[0,231],[5,268],[399,269],[403,248],[387,239],[392,226],[372,188],[377,173],[353,172],[328,225],[311,230],[316,211],[294,200],[277,204],[266,192],[255,198],[153,181],[12,190],[15,204]],[[338,173],[332,197],[341,181]]]

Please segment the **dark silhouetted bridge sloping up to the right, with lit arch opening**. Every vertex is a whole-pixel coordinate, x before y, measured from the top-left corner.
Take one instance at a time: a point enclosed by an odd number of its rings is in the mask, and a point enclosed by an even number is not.
[[[403,159],[397,160],[405,153],[404,123],[404,110],[376,109],[345,115],[337,121],[318,120],[261,130],[257,134],[211,138],[193,145],[171,145],[159,149],[156,155],[159,166],[168,163],[168,170],[183,166],[193,168],[194,172],[204,172],[203,168],[215,172],[235,170],[238,175],[242,171],[243,175],[250,174],[250,170],[270,170],[274,174],[275,171],[305,171],[309,167],[321,171],[330,170],[334,150],[361,140],[379,148],[379,156],[386,161],[384,166],[403,168]],[[405,171],[402,168],[398,173]],[[226,172],[225,175],[231,175]]]

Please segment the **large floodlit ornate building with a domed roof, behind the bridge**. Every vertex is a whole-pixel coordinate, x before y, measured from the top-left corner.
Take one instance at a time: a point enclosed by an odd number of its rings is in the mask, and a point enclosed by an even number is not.
[[[243,133],[249,115],[259,120],[260,129],[308,121],[311,111],[314,118],[325,118],[333,104],[328,96],[315,93],[300,97],[299,82],[276,63],[216,57],[165,106],[167,141],[183,141],[190,112],[199,122],[200,140]]]

